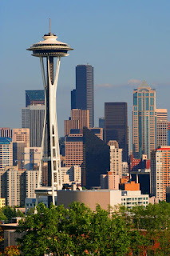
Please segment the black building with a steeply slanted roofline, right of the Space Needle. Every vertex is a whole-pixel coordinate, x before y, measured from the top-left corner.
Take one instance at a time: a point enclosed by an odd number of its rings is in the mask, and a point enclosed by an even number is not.
[[[93,130],[83,128],[83,163],[81,166],[81,184],[86,188],[100,186],[101,174],[110,169],[109,146]]]

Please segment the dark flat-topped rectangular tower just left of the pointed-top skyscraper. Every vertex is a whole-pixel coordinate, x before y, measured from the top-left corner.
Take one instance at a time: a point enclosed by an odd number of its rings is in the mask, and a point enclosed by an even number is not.
[[[116,140],[123,150],[123,162],[128,160],[128,106],[126,102],[105,103],[105,142]]]

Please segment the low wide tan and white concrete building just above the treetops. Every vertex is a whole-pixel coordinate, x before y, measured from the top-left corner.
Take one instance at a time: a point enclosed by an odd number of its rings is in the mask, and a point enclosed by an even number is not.
[[[68,207],[72,202],[83,202],[91,210],[96,210],[97,204],[108,210],[108,207],[122,205],[128,208],[132,206],[147,206],[148,195],[139,191],[121,190],[60,190],[57,191],[57,206],[64,204]]]

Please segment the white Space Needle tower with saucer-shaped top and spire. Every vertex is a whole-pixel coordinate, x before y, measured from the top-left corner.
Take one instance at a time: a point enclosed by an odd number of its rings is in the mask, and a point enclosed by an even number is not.
[[[44,40],[34,43],[27,50],[33,51],[33,56],[40,58],[42,68],[42,80],[45,90],[45,118],[42,133],[42,152],[39,165],[38,187],[35,190],[36,203],[39,196],[48,196],[48,206],[53,202],[57,190],[62,189],[60,149],[57,132],[57,111],[56,111],[56,93],[57,80],[60,68],[61,57],[68,56],[68,51],[73,50],[65,42],[57,41],[57,36],[50,31],[44,35]],[[57,59],[56,64],[54,59]],[[44,59],[46,65],[44,63]],[[54,68],[55,66],[55,68]],[[45,72],[46,69],[46,72]],[[47,137],[47,154],[45,154],[45,136]],[[42,186],[42,165],[47,162],[48,165],[48,186]]]

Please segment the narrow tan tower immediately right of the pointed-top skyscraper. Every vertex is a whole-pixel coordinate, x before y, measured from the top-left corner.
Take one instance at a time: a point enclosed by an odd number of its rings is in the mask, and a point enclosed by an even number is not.
[[[168,145],[168,110],[156,109],[156,145]]]

